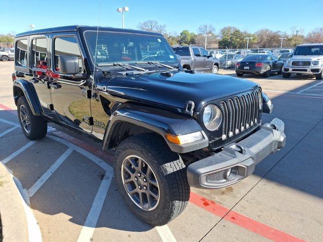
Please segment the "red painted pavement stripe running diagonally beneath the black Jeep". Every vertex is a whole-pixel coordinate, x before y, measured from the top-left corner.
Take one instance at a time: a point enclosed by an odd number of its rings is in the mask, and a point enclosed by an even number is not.
[[[14,111],[14,113],[17,114],[15,110],[12,110],[11,108],[3,104],[0,104],[0,108],[8,111]],[[95,154],[96,156],[100,157],[104,161],[109,162],[110,164],[113,162],[113,155],[111,155],[110,153],[107,153],[106,151],[102,151],[101,149],[98,149],[84,141],[81,141],[61,131],[55,131],[52,134],[55,134],[56,136],[62,139],[65,139],[81,147],[82,149]],[[290,235],[288,233],[275,229],[271,226],[268,226],[256,220],[253,220],[252,218],[248,218],[237,212],[230,211],[228,208],[192,192],[190,194],[190,202],[214,215],[223,217],[225,220],[229,222],[232,222],[240,227],[248,229],[249,231],[252,231],[256,234],[259,234],[273,241],[278,241],[278,242],[300,242],[300,241],[304,242],[305,241],[303,239],[297,238],[293,235]]]

